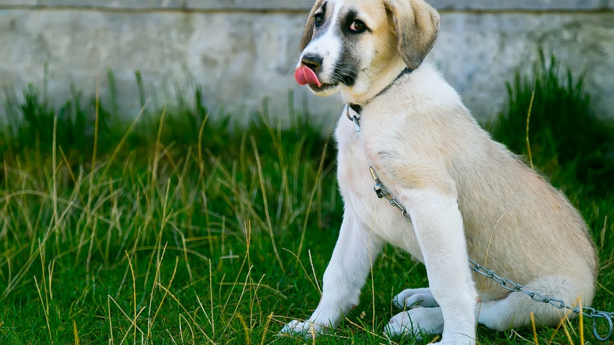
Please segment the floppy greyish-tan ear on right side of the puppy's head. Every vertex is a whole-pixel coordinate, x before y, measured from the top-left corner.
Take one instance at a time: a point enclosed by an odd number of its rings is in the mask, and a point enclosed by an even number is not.
[[[398,51],[405,64],[418,68],[435,45],[441,20],[423,0],[384,0],[397,33]]]

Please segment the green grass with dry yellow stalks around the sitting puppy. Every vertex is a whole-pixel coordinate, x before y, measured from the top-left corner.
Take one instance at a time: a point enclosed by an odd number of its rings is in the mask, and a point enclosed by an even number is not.
[[[526,152],[536,80],[532,161],[589,223],[602,266],[593,305],[613,311],[612,131],[581,83],[557,76],[555,64],[518,77],[492,132]],[[60,112],[38,95],[9,103],[0,136],[0,344],[305,344],[278,331],[316,308],[341,223],[322,129],[300,116],[282,129],[264,114],[228,131],[200,92],[192,109],[150,109],[133,124],[77,92]],[[387,246],[360,306],[316,343],[389,344],[392,297],[427,285],[424,266]],[[578,320],[565,329],[578,344]],[[554,333],[538,330],[540,344],[569,343]],[[480,344],[532,339],[478,329]]]

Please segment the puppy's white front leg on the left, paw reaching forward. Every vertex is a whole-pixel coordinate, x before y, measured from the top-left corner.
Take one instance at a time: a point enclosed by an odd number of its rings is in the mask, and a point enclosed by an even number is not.
[[[346,204],[339,238],[324,272],[320,303],[308,320],[293,320],[282,328],[282,333],[311,336],[333,331],[341,318],[358,305],[360,289],[382,247],[382,242]]]

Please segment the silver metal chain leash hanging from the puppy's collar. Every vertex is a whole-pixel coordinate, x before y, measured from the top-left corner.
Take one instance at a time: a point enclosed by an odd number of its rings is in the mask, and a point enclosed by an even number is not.
[[[356,133],[358,134],[360,140],[362,141],[362,137],[360,137],[360,125],[359,125],[360,118],[349,114],[349,106],[346,106],[346,115],[352,122],[354,122],[354,129],[356,130]],[[364,143],[362,143],[362,147],[363,149],[365,149]],[[365,155],[366,154],[367,152],[365,151]],[[407,214],[407,210],[405,209],[405,207],[403,207],[397,201],[394,195],[392,195],[392,193],[390,193],[386,189],[386,187],[384,187],[381,180],[379,180],[379,177],[377,176],[375,169],[373,169],[373,164],[371,163],[371,160],[368,157],[368,155],[367,155],[367,161],[369,163],[369,171],[371,172],[371,177],[373,177],[373,180],[375,181],[373,190],[375,191],[378,198],[386,199],[391,206],[397,207],[397,209],[401,211],[403,218],[411,222],[411,217],[410,215]],[[593,335],[595,336],[595,338],[599,339],[600,341],[608,341],[613,338],[614,325],[613,325],[612,320],[614,319],[614,312],[595,310],[594,308],[587,307],[587,306],[583,306],[581,308],[568,306],[563,300],[546,297],[546,296],[541,295],[540,293],[526,290],[523,288],[523,285],[516,284],[510,279],[505,279],[499,276],[492,269],[488,269],[480,265],[479,263],[473,261],[472,259],[468,259],[468,260],[471,263],[471,265],[469,265],[469,269],[471,269],[475,273],[481,274],[484,277],[492,279],[493,281],[497,282],[497,284],[500,284],[501,287],[503,287],[503,289],[509,290],[511,292],[524,292],[526,293],[526,295],[528,295],[532,300],[536,302],[548,303],[559,309],[569,309],[575,314],[582,314],[583,316],[588,317],[589,319],[593,319]],[[605,336],[599,335],[599,330],[597,330],[597,327],[599,327],[599,324],[597,324],[597,320],[599,319],[604,319],[605,321],[605,327],[607,328]]]

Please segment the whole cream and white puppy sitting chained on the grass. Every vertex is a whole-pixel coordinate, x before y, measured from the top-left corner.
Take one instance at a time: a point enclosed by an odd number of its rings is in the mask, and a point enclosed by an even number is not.
[[[591,304],[597,254],[583,217],[494,141],[424,61],[439,29],[440,15],[423,0],[314,4],[295,79],[348,104],[335,130],[344,213],[319,305],[282,333],[334,331],[386,243],[424,263],[429,279],[428,288],[393,299],[400,309],[421,308],[393,316],[391,336],[427,332],[441,335],[437,344],[475,344],[478,322],[503,331],[530,325],[531,312],[542,327],[567,317],[472,272],[470,258],[526,290]],[[374,178],[411,222],[373,193]]]

